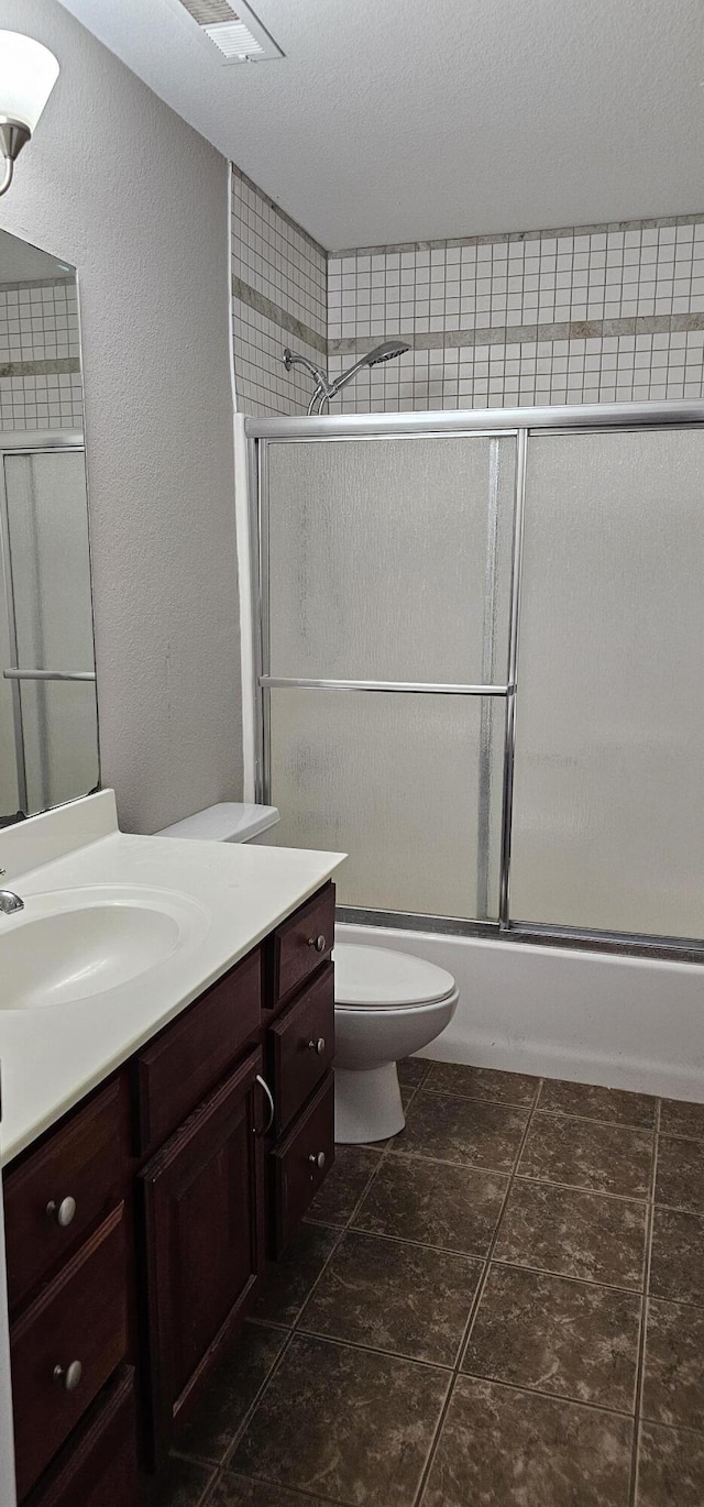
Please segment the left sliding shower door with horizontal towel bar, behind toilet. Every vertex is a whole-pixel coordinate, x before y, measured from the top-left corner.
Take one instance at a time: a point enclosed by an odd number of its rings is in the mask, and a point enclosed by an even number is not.
[[[265,782],[339,903],[497,919],[517,440],[268,442]]]

